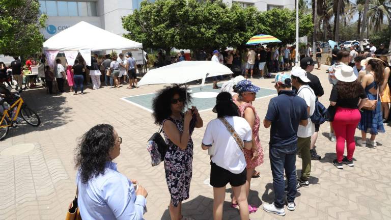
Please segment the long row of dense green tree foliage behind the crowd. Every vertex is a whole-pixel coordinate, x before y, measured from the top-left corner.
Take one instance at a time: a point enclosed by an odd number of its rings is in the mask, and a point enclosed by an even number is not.
[[[122,18],[125,36],[144,47],[183,49],[237,47],[257,34],[270,34],[284,43],[295,40],[295,12],[255,7],[228,7],[222,1],[157,0],[142,2]],[[312,16],[300,14],[300,36],[312,32]]]

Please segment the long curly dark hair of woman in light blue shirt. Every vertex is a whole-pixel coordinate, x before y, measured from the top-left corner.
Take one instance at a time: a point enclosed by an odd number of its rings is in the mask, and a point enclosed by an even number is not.
[[[114,127],[109,124],[95,125],[83,134],[75,150],[75,167],[79,170],[82,183],[104,174],[105,164],[110,160],[109,152],[114,145]]]

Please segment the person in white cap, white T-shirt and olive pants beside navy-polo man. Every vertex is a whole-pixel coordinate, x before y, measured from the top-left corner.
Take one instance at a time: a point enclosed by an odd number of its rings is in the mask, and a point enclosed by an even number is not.
[[[311,57],[310,57],[311,58]],[[311,58],[312,59],[312,58]],[[297,96],[304,99],[307,105],[308,117],[311,117],[315,112],[316,96],[314,91],[308,85],[311,80],[307,77],[305,70],[297,68],[292,71],[292,86],[298,89]],[[315,132],[315,124],[308,120],[306,126],[299,125],[297,130],[297,148],[301,155],[302,169],[301,177],[298,179],[297,187],[309,187],[309,179],[311,175],[311,136]]]

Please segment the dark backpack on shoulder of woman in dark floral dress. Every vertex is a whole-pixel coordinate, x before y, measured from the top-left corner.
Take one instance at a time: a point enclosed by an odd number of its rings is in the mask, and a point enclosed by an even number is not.
[[[157,166],[161,161],[164,161],[165,152],[167,151],[167,144],[160,135],[163,127],[161,126],[159,130],[159,132],[152,134],[147,142],[147,150],[151,155],[152,167]]]

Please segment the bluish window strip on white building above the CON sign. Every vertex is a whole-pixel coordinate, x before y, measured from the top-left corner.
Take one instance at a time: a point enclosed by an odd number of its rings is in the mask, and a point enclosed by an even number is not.
[[[39,1],[40,13],[48,16],[97,16],[96,2]]]

